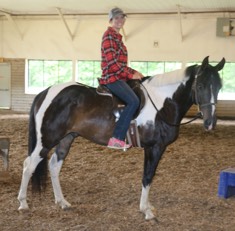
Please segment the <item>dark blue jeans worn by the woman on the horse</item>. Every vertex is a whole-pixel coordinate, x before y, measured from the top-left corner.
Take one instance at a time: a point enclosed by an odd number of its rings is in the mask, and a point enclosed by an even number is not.
[[[118,80],[105,86],[126,104],[113,131],[113,137],[125,140],[130,122],[139,107],[139,98],[125,81]]]

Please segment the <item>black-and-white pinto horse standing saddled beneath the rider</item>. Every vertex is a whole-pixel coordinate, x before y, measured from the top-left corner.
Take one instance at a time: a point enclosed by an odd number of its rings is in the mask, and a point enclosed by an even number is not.
[[[197,104],[204,128],[215,127],[217,95],[222,86],[218,71],[224,64],[223,58],[216,66],[211,66],[206,57],[201,65],[152,76],[140,84],[145,92],[145,103],[136,121],[145,154],[140,199],[145,219],[155,217],[149,192],[156,168],[166,147],[177,139],[180,122],[189,108]],[[55,151],[49,161],[49,171],[55,202],[63,209],[70,207],[61,190],[59,173],[73,140],[81,136],[107,145],[115,120],[112,98],[98,95],[95,88],[65,83],[38,94],[30,112],[29,152],[18,195],[19,210],[28,209],[27,187],[31,177],[37,189],[45,186],[47,155],[52,148]]]

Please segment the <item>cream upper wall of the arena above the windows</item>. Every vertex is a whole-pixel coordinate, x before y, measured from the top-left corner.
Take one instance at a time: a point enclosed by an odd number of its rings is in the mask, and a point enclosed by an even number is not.
[[[131,15],[125,25],[129,60],[235,61],[235,37],[216,37],[216,18],[222,14]],[[232,17],[230,15],[230,17]],[[108,20],[104,16],[70,16],[66,21],[72,40],[59,16],[14,17],[23,38],[5,17],[0,18],[0,57],[29,59],[99,60],[100,42]],[[158,41],[159,46],[153,46]]]

